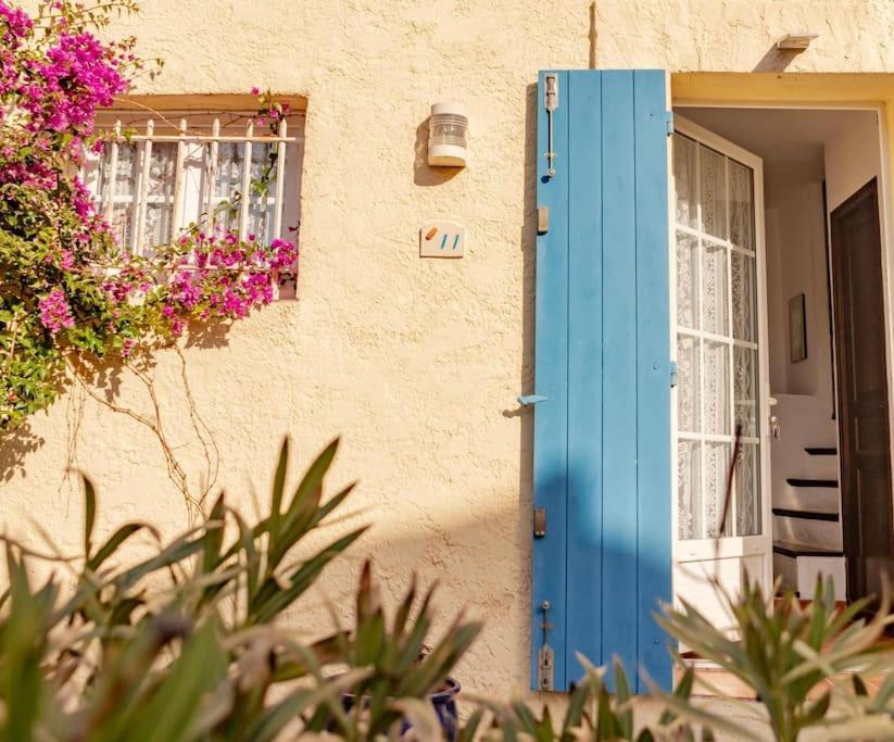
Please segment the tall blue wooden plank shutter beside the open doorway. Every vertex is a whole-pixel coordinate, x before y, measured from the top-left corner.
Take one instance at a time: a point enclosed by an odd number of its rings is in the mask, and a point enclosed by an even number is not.
[[[545,75],[555,175],[547,177]],[[671,684],[653,619],[671,598],[668,116],[662,71],[542,73],[538,91],[531,677],[553,688],[619,656]]]

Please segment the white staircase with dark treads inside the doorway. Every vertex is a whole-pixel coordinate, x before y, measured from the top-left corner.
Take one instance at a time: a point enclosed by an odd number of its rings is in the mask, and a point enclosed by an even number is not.
[[[838,451],[807,447],[796,457],[790,455],[788,464],[798,476],[785,476],[781,487],[777,480],[772,493],[773,575],[782,579],[783,589],[805,599],[813,594],[817,575],[831,575],[835,600],[843,601]]]

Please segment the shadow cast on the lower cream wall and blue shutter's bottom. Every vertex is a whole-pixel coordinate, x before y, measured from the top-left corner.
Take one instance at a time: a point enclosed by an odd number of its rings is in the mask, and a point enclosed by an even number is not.
[[[494,496],[481,492],[478,499],[484,502]],[[645,663],[647,676],[669,689],[665,672],[670,667],[668,647],[672,641],[645,618],[659,611],[658,596],[650,601],[634,587],[659,581],[667,565],[651,559],[647,553],[638,557],[628,543],[615,540],[612,533],[601,537],[592,527],[601,503],[593,499],[590,505],[589,512],[581,508],[579,517],[569,523],[582,558],[569,563],[567,582],[556,586],[556,594],[566,595],[565,609],[554,606],[550,613],[554,626],[549,642],[562,652],[562,657],[556,657],[556,687],[565,688],[566,679],[576,682],[583,677],[584,669],[576,657],[579,651],[597,665],[618,656],[629,676],[637,678],[640,692],[647,690]],[[417,573],[421,586],[437,580],[441,586],[435,603],[439,619],[467,611],[469,617],[484,620],[484,632],[456,670],[463,686],[501,697],[525,691],[536,681],[530,677],[531,654],[539,650],[542,636],[539,629],[532,632],[530,624],[530,506],[522,496],[517,508],[508,503],[504,508],[470,515],[456,507],[444,520],[401,532],[389,528],[389,516],[380,508],[361,513],[356,523],[372,523],[373,527],[342,562],[344,571],[324,578],[323,594],[332,604],[350,604],[367,555],[376,566],[389,612],[393,612],[412,571]],[[583,558],[589,556],[593,558]],[[295,620],[306,620],[300,612],[294,616]]]

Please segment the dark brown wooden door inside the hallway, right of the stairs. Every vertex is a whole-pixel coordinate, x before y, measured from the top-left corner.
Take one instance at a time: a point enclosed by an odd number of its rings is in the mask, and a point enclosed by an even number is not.
[[[894,564],[882,251],[872,179],[832,212],[842,521],[847,599]]]

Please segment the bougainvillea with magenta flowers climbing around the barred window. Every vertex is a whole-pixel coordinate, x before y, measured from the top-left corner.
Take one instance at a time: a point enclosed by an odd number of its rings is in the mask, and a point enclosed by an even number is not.
[[[121,10],[136,8],[43,0],[32,16],[0,0],[0,433],[59,395],[72,361],[126,360],[191,323],[244,317],[295,271],[291,242],[197,225],[151,259],[116,243],[77,171],[102,147],[98,110],[146,72],[133,39],[96,36]],[[257,121],[276,127],[287,111],[257,95]]]

